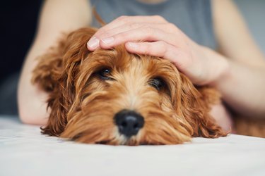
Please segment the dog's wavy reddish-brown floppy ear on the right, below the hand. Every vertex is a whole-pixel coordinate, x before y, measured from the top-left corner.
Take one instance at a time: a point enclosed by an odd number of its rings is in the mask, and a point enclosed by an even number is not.
[[[193,128],[193,137],[216,138],[225,136],[221,127],[211,117],[209,111],[218,94],[211,89],[196,89],[192,82],[182,73],[181,111],[184,118]]]

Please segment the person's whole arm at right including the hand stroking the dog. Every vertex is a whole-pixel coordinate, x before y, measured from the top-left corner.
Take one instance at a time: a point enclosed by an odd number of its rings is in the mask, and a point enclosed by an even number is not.
[[[264,56],[232,1],[213,1],[213,18],[223,55],[199,46],[158,16],[117,18],[98,30],[98,45],[90,40],[88,49],[107,49],[126,42],[132,53],[169,59],[194,84],[216,86],[235,111],[264,117]]]

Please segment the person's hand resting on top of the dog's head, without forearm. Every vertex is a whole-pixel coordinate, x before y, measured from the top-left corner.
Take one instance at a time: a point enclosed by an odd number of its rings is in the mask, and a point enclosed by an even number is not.
[[[178,27],[158,15],[119,17],[91,37],[88,49],[110,49],[123,43],[131,53],[168,59],[194,84],[210,84],[228,67],[225,58],[196,44]]]

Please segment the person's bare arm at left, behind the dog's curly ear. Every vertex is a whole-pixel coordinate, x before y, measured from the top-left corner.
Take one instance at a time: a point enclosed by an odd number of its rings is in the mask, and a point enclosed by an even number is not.
[[[61,32],[88,26],[91,20],[90,4],[86,0],[47,0],[42,6],[37,34],[23,64],[18,83],[18,111],[20,120],[35,125],[45,125],[47,93],[31,83],[36,58],[54,46]]]

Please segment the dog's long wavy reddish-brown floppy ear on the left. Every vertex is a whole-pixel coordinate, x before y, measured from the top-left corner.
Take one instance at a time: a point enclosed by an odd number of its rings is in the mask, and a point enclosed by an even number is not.
[[[33,71],[33,83],[49,92],[47,108],[51,110],[42,133],[59,136],[64,131],[75,98],[76,74],[79,65],[90,53],[86,43],[95,31],[93,28],[83,28],[71,32],[57,46],[40,56],[40,62]]]

